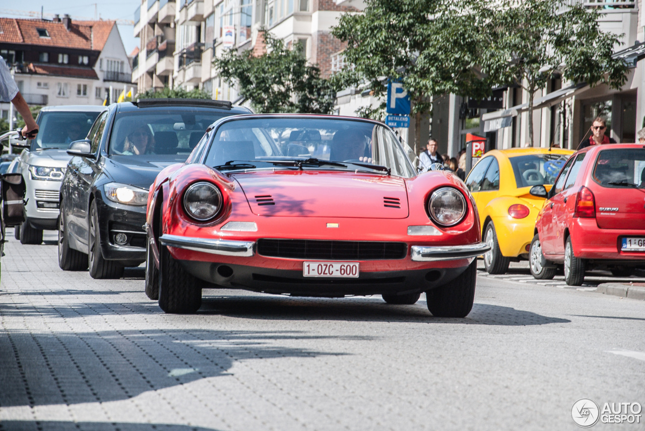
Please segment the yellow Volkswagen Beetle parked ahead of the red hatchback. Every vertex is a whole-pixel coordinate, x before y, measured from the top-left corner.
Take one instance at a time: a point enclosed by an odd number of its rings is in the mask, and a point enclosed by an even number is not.
[[[528,259],[535,219],[544,198],[531,196],[534,185],[550,190],[572,150],[517,148],[493,150],[471,169],[466,186],[475,197],[490,274],[503,274],[510,261]]]

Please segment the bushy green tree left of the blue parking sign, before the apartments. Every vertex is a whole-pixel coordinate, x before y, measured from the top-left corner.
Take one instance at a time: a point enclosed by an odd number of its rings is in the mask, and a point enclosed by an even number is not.
[[[317,66],[307,64],[298,43],[289,49],[281,39],[264,32],[266,51],[224,51],[213,67],[230,85],[250,100],[257,113],[332,113],[338,80],[321,77]]]

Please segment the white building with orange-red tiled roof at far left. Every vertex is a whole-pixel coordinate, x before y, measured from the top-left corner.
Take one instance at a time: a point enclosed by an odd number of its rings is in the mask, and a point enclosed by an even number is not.
[[[114,21],[0,18],[0,55],[30,105],[100,105],[110,87],[112,100],[132,87]],[[7,118],[9,104],[0,110]]]

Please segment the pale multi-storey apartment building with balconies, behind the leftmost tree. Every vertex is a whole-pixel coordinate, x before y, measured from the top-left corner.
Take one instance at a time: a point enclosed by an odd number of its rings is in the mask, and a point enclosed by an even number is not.
[[[212,68],[224,50],[264,50],[261,28],[290,45],[301,42],[303,55],[323,76],[337,68],[341,42],[330,28],[338,17],[357,10],[339,0],[141,0],[135,12],[134,35],[141,52],[133,78],[139,88],[201,88],[213,98],[237,100]],[[350,2],[351,3],[351,2]],[[354,3],[362,3],[354,1]],[[171,30],[172,29],[172,30]],[[164,46],[163,55],[161,48]],[[171,48],[174,48],[172,50]],[[170,58],[172,56],[172,68]],[[141,66],[144,64],[144,67]]]

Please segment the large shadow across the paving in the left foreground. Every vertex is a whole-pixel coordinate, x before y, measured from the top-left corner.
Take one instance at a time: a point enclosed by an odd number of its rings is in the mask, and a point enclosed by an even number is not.
[[[371,336],[342,338],[350,342],[372,340]],[[338,337],[299,331],[208,329],[10,331],[0,342],[1,375],[3,381],[10,382],[0,390],[0,405],[10,408],[120,401],[192,381],[230,376],[236,362],[313,360],[346,354],[301,347],[324,345],[326,339]],[[210,384],[219,385],[216,381]]]

